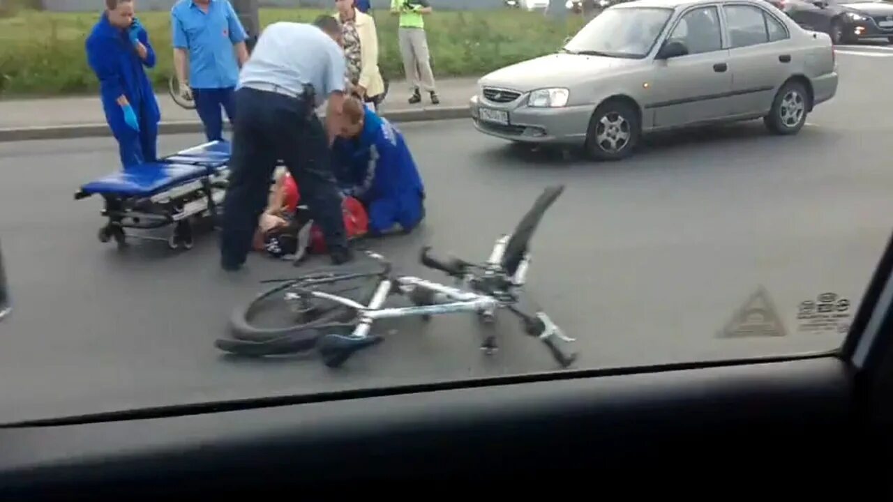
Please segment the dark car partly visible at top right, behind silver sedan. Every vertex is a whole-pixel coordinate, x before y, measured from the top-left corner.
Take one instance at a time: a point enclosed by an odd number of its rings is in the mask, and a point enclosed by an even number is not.
[[[878,0],[776,0],[805,29],[827,33],[834,44],[863,38],[893,42],[893,4]]]

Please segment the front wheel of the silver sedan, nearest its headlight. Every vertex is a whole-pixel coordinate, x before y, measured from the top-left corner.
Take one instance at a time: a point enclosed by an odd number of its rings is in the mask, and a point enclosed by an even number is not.
[[[638,144],[641,125],[638,111],[620,100],[598,105],[589,119],[586,152],[597,161],[618,161],[632,155]]]

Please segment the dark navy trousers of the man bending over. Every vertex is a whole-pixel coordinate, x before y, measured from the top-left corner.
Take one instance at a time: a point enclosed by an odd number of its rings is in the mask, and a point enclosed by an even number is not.
[[[272,173],[282,160],[319,223],[330,252],[346,249],[341,197],[332,174],[329,138],[313,103],[281,94],[240,88],[233,126],[230,185],[223,201],[221,260],[245,263],[257,219],[270,195]]]

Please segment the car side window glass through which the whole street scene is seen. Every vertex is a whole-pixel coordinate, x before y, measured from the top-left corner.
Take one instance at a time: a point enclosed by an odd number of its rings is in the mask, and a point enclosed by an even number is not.
[[[849,330],[893,213],[893,93],[864,78],[893,48],[859,27],[832,46],[750,0],[230,3],[0,0],[0,425]],[[684,47],[648,57],[663,35]]]

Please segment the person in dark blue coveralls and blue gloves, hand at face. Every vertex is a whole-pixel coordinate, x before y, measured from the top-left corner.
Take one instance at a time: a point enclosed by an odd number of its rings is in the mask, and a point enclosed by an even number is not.
[[[154,162],[161,113],[145,68],[154,67],[155,53],[134,16],[132,0],[105,0],[105,12],[90,31],[86,48],[121,165]]]

